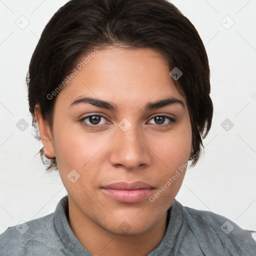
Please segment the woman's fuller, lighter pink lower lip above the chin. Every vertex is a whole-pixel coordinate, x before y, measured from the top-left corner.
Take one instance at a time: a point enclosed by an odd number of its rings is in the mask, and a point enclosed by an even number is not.
[[[136,189],[136,190],[123,190],[112,188],[101,188],[101,190],[120,202],[139,202],[144,200],[150,195],[153,189]]]

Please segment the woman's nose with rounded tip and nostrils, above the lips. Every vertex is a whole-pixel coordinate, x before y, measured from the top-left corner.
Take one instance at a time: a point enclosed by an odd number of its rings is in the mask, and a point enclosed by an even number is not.
[[[109,161],[114,166],[122,165],[132,170],[138,166],[148,166],[151,163],[151,154],[146,137],[142,131],[138,132],[135,125],[123,131],[117,129],[117,134],[111,142]]]

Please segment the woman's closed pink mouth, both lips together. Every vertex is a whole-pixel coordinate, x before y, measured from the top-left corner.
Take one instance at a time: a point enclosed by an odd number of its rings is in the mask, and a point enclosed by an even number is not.
[[[115,182],[101,187],[107,196],[126,203],[135,203],[147,198],[155,187],[142,182]]]

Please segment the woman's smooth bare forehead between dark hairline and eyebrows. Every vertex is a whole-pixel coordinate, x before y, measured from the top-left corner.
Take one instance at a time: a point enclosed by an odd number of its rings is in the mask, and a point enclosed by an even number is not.
[[[76,65],[77,73],[58,93],[56,103],[61,100],[60,103],[67,105],[84,95],[116,102],[116,105],[141,104],[166,96],[185,103],[169,75],[167,59],[153,49],[112,46],[96,54],[87,52],[77,63],[80,70]]]

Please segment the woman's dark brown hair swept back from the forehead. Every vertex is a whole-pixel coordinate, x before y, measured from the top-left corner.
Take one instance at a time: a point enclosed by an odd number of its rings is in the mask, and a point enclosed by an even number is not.
[[[42,31],[26,77],[36,139],[40,137],[35,104],[40,105],[52,131],[56,96],[49,99],[47,95],[61,84],[83,54],[109,45],[149,47],[168,60],[170,70],[181,70],[178,84],[173,80],[187,102],[193,154],[197,155],[190,156],[194,166],[213,112],[208,58],[193,24],[167,0],[70,0],[54,13]],[[57,169],[55,157],[44,161],[43,147],[39,152],[46,171]]]

